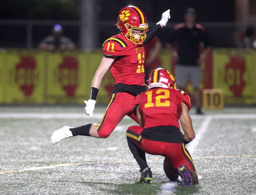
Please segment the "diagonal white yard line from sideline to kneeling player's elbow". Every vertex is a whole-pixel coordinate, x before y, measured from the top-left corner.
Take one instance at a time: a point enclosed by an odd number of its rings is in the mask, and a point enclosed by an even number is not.
[[[198,145],[200,139],[202,138],[203,134],[205,133],[209,123],[212,121],[212,116],[206,116],[204,122],[202,123],[201,127],[195,132],[196,133],[196,137],[195,139],[188,144],[188,151],[193,153],[194,149],[196,148],[196,146]]]

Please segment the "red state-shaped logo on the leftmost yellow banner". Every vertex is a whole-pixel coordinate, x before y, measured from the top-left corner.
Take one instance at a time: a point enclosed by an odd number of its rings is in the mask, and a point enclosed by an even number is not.
[[[15,67],[14,81],[26,97],[31,96],[37,81],[36,60],[33,57],[21,56]]]

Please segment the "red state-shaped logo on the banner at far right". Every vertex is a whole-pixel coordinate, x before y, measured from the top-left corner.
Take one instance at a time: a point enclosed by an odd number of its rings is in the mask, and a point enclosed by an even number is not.
[[[245,82],[243,80],[245,71],[245,59],[243,57],[231,56],[230,62],[225,66],[225,82],[235,97],[241,96]]]

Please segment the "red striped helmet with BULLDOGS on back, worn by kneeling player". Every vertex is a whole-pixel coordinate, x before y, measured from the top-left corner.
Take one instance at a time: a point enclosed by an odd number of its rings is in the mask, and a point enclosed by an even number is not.
[[[154,87],[176,89],[175,78],[168,70],[157,68],[148,77],[148,89]]]

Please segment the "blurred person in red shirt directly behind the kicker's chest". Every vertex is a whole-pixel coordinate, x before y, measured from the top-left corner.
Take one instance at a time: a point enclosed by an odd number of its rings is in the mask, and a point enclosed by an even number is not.
[[[147,56],[146,61],[144,63],[146,85],[148,85],[148,74],[152,70],[162,67],[162,62],[157,57],[161,48],[162,43],[156,36],[148,44],[144,45],[144,50]]]

